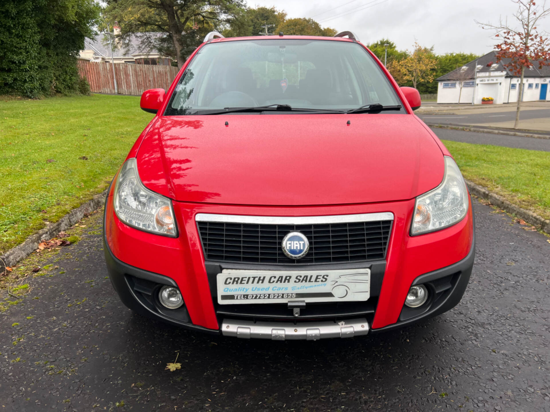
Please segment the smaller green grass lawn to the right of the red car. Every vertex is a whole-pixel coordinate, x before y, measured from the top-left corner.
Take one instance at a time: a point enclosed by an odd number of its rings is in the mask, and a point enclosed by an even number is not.
[[[464,177],[550,219],[550,152],[444,140]]]

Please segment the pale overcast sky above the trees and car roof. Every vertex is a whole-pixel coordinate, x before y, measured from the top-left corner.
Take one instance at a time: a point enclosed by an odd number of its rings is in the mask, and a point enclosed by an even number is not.
[[[485,54],[493,49],[491,32],[479,21],[511,16],[511,0],[246,0],[250,7],[275,6],[288,18],[307,17],[323,27],[353,31],[362,43],[389,38],[399,49],[411,49],[415,38],[438,54]],[[539,29],[550,31],[550,17]]]

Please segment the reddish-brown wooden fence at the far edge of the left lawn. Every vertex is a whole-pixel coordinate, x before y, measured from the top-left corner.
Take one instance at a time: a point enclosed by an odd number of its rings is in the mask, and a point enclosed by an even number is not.
[[[78,70],[90,83],[92,93],[114,94],[113,69],[111,63],[86,62],[79,60]],[[118,94],[140,95],[150,88],[168,91],[178,68],[145,64],[115,63]]]

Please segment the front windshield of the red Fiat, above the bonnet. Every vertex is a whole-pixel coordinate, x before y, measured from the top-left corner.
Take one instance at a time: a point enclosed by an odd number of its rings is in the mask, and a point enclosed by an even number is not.
[[[375,60],[355,42],[239,40],[202,47],[164,115],[277,104],[326,113],[401,102]]]

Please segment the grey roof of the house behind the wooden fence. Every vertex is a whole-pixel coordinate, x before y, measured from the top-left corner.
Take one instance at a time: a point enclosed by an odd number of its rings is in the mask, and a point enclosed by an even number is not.
[[[128,38],[117,42],[114,35],[111,35],[113,42],[113,57],[131,57],[133,54],[157,54],[157,49],[153,46],[154,40],[165,36],[160,32],[146,32],[130,35]],[[85,38],[84,49],[93,50],[96,55],[111,57],[109,48],[109,37],[99,34],[95,38]]]

